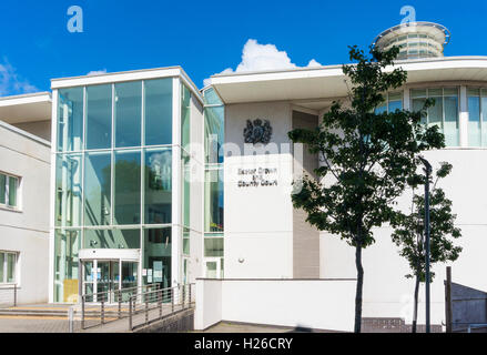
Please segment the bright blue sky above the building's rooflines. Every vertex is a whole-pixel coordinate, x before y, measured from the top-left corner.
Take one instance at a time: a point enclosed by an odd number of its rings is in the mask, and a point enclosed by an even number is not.
[[[83,10],[82,33],[67,29],[70,6]],[[2,0],[0,95],[49,90],[52,78],[169,65],[182,65],[201,88],[237,68],[248,39],[274,44],[298,67],[341,64],[348,44],[366,48],[398,24],[404,6],[452,31],[446,55],[487,55],[484,0]]]

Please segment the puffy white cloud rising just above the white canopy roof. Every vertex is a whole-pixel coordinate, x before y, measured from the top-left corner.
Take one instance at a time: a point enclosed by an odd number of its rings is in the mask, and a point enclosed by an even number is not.
[[[312,59],[306,67],[321,67],[316,60]],[[235,70],[227,68],[223,73],[240,73],[248,71],[278,70],[300,68],[291,61],[285,51],[280,51],[274,44],[260,44],[256,40],[250,39],[242,50],[242,61]],[[204,85],[209,85],[211,79],[204,80]]]

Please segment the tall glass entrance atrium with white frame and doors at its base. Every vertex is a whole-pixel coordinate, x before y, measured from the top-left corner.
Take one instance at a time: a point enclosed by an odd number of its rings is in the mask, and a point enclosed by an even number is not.
[[[169,77],[55,93],[53,302],[184,281],[190,184],[174,181],[191,160],[191,90]]]

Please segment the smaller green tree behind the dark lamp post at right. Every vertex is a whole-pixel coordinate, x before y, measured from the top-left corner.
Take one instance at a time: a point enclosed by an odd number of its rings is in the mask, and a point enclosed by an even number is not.
[[[445,195],[443,189],[437,187],[439,179],[447,176],[452,172],[452,165],[442,162],[436,171],[436,181],[429,195],[429,263],[455,261],[461,252],[460,246],[454,245],[454,239],[461,236],[459,229],[455,227],[456,215],[452,213],[452,201]],[[426,179],[426,178],[424,178]],[[394,243],[399,246],[399,254],[409,263],[412,274],[406,277],[415,277],[414,288],[414,314],[413,333],[416,333],[417,307],[419,283],[426,282],[426,254],[425,254],[425,196],[416,194],[413,187],[413,199],[410,212],[408,214],[397,212],[392,225]],[[435,273],[430,273],[430,282]]]

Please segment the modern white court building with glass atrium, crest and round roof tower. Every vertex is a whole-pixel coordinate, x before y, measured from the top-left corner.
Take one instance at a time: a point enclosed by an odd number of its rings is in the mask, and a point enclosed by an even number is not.
[[[443,57],[448,39],[429,22],[379,34],[375,45],[400,48],[408,78],[377,110],[435,99],[425,123],[447,146],[425,156],[454,166],[443,182],[463,231],[454,278],[487,290],[487,58]],[[40,187],[51,201],[49,302],[197,280],[199,328],[225,320],[352,329],[353,248],[293,209],[292,182],[319,160],[287,138],[347,102],[345,79],[326,65],[217,74],[202,90],[180,67],[52,80],[51,182]],[[364,317],[410,323],[414,284],[390,233],[377,229],[364,252]],[[435,273],[432,321],[442,324],[445,265]]]

